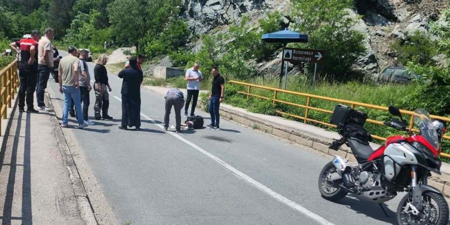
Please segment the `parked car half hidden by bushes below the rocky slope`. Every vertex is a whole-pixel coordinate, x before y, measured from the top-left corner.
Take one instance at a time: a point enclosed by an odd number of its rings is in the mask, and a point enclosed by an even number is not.
[[[378,83],[400,83],[408,84],[414,79],[418,79],[416,74],[406,71],[404,66],[389,66],[383,70],[378,77]]]

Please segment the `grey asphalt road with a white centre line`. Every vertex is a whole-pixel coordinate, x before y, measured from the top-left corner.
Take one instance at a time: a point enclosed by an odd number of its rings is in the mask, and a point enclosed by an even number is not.
[[[93,80],[94,64],[89,63]],[[181,134],[162,129],[164,98],[141,88],[142,130],[120,125],[121,79],[109,75],[110,115],[73,129],[74,137],[119,221],[133,225],[384,225],[395,223],[401,196],[377,204],[352,196],[338,203],[320,197],[318,174],[330,158],[273,136],[221,121],[221,131]],[[63,95],[49,81],[62,108]],[[196,111],[209,118],[209,114]],[[73,119],[69,124],[75,124]],[[174,115],[170,121],[173,124]],[[206,119],[205,125],[209,124]],[[172,129],[173,130],[173,129]]]

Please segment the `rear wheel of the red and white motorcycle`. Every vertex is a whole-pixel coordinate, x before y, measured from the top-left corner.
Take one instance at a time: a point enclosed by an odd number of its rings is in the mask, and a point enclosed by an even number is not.
[[[324,199],[329,201],[338,201],[347,195],[347,192],[339,187],[342,184],[342,179],[328,181],[327,176],[330,173],[336,172],[337,169],[333,162],[328,163],[322,169],[319,175],[319,191]]]

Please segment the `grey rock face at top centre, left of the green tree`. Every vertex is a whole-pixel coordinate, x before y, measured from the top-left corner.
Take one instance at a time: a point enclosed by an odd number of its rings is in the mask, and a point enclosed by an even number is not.
[[[203,34],[239,19],[242,13],[263,7],[265,0],[184,0],[189,29]]]

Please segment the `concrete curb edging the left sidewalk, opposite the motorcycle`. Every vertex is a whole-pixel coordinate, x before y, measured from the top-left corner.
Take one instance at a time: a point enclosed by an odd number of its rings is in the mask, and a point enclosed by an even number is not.
[[[45,95],[45,101],[48,106],[53,106],[53,102],[51,101],[49,93]],[[62,133],[61,127],[59,126],[59,122],[56,118],[55,112],[49,112],[52,116],[52,126],[55,130],[56,139],[59,143],[59,151],[61,152],[62,159],[64,161],[64,166],[67,168],[70,174],[70,180],[72,181],[72,187],[75,193],[75,197],[78,201],[78,207],[81,212],[81,218],[83,218],[86,225],[98,225],[98,221],[94,214],[94,209],[89,200],[89,196],[86,193],[86,189],[83,185],[83,181],[80,178],[80,174],[76,167],[75,161],[73,160],[72,153],[70,152],[69,146],[67,145],[67,141]]]

